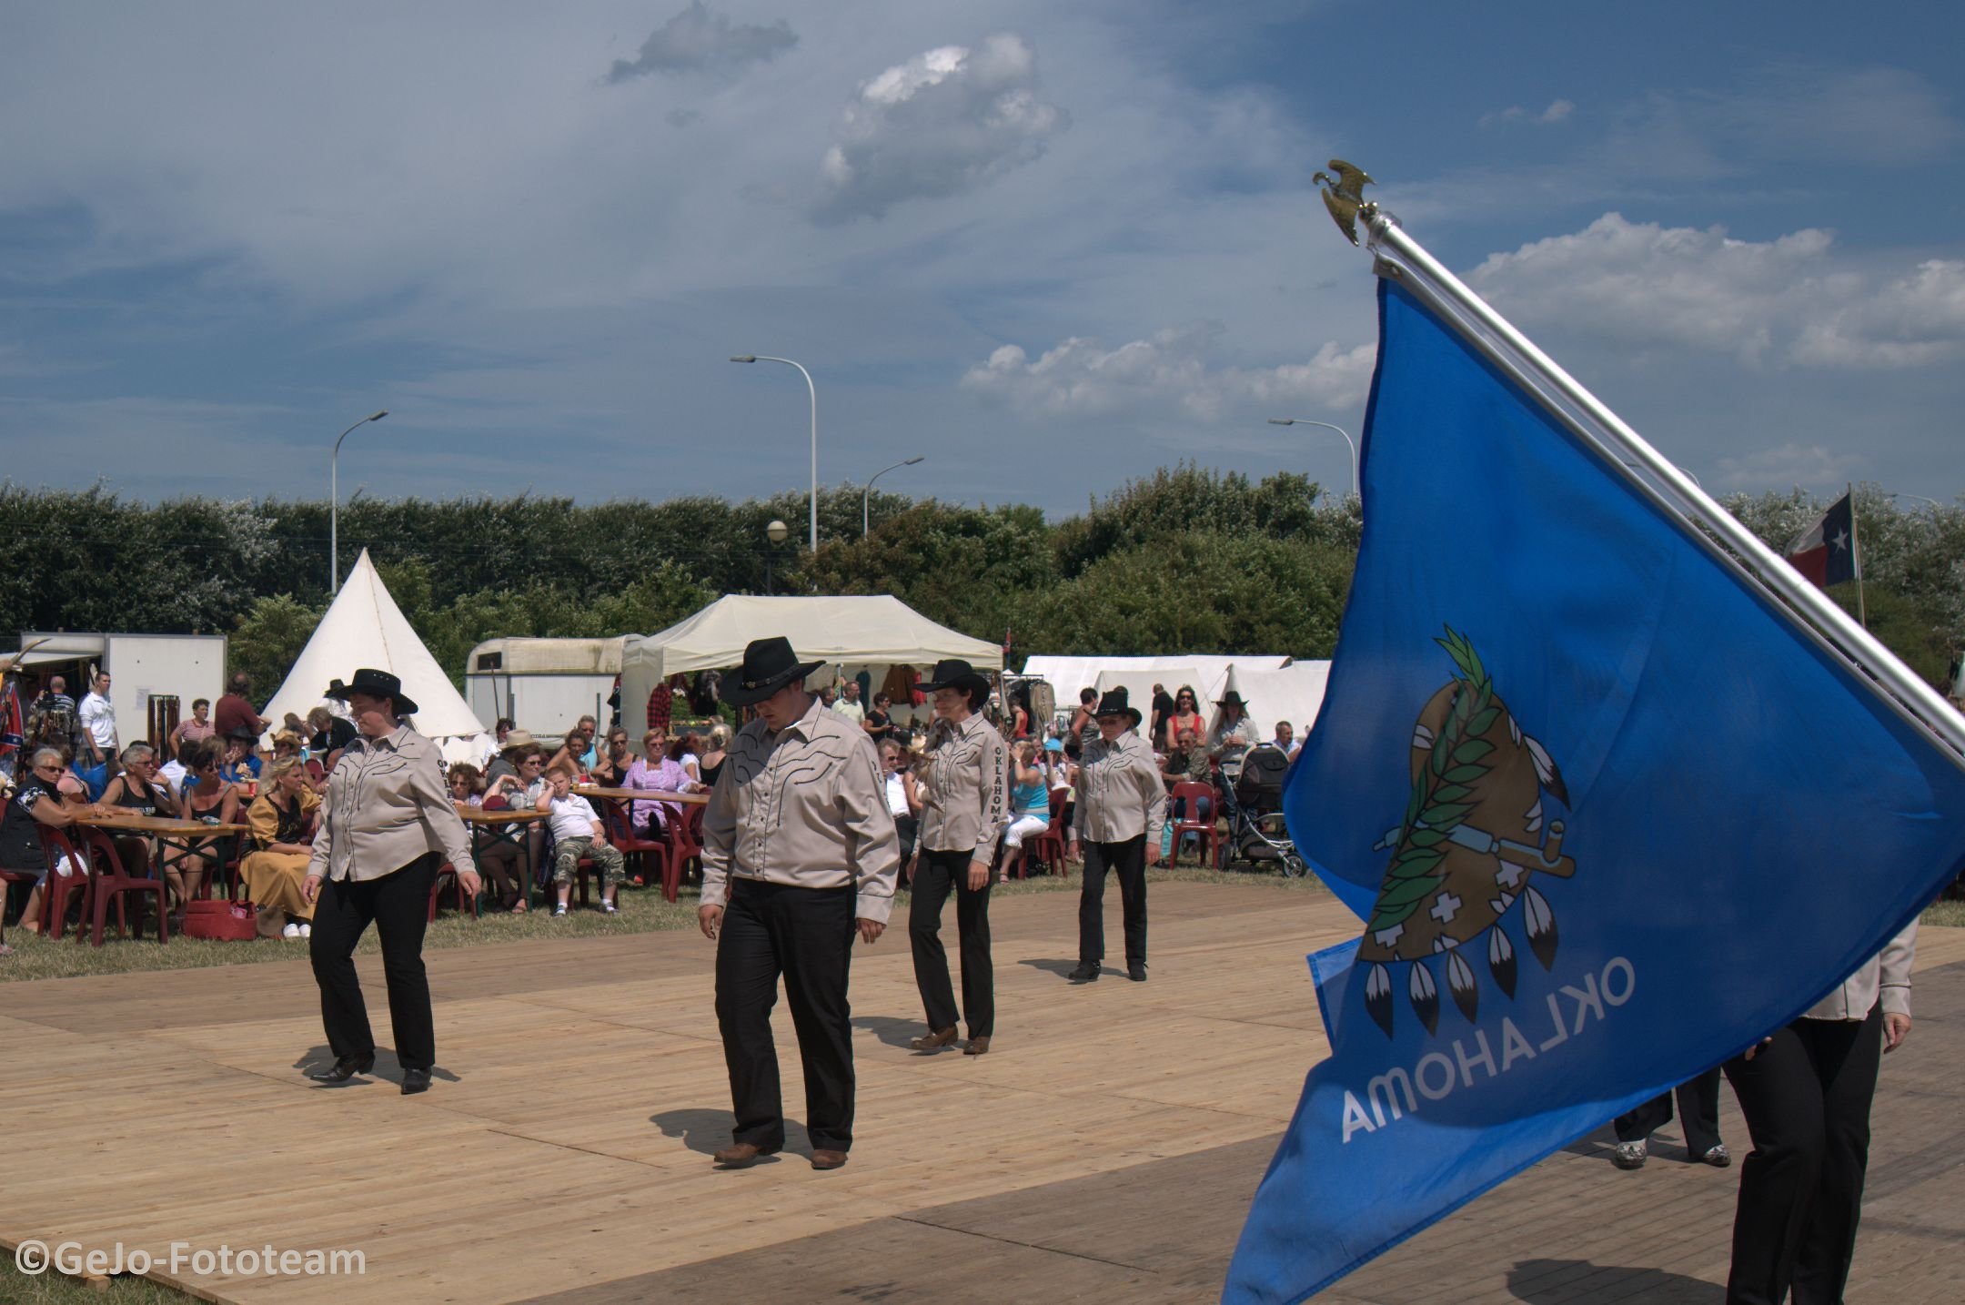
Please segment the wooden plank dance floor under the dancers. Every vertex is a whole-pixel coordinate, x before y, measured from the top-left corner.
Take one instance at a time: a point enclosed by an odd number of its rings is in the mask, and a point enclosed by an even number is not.
[[[365,1274],[153,1272],[214,1301],[1201,1301],[1324,1053],[1303,953],[1328,896],[1155,884],[1151,981],[1065,985],[1069,892],[994,904],[998,1036],[916,1055],[904,928],[853,965],[851,1163],[721,1173],[711,945],[643,934],[428,953],[438,1071],[320,1089],[303,963],[0,985],[0,1242],[360,1250]],[[1118,900],[1108,937],[1118,943]],[[1928,930],[1884,1063],[1851,1299],[1965,1299],[1965,937]],[[953,943],[953,910],[947,936]],[[377,957],[362,957],[387,1044]],[[778,1006],[786,1105],[802,1114]],[[1747,1138],[1725,1095],[1723,1132]],[[1324,1299],[1717,1301],[1737,1169],[1558,1154]],[[1945,1195],[1949,1193],[1949,1195]],[[1332,1193],[1334,1201],[1348,1199]]]

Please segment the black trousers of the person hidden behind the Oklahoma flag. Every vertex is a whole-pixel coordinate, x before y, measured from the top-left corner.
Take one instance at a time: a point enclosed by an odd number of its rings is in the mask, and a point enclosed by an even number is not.
[[[1796,1020],[1725,1077],[1753,1136],[1733,1215],[1729,1305],[1841,1301],[1863,1215],[1869,1105],[1882,1059],[1882,1010]]]

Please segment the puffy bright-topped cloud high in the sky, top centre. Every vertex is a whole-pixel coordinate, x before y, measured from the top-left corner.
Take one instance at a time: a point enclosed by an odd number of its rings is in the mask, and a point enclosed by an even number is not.
[[[973,191],[1071,126],[1038,94],[1038,55],[1014,33],[941,45],[861,85],[819,165],[819,222],[886,214],[910,199]]]

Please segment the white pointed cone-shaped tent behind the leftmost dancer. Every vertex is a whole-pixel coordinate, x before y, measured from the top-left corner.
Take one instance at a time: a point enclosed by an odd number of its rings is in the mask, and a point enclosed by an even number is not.
[[[367,548],[342,580],[342,592],[320,617],[301,658],[287,672],[287,682],[273,694],[265,717],[275,725],[287,711],[307,719],[310,709],[322,706],[328,682],[354,678],[358,666],[387,670],[403,682],[403,692],[419,708],[411,725],[417,733],[436,739],[446,759],[476,761],[483,755],[489,743],[483,721],[464,704],[450,676],[389,597]],[[271,739],[265,743],[271,745]]]

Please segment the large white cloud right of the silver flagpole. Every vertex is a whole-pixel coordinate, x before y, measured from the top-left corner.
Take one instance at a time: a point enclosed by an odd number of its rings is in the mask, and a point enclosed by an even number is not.
[[[1804,228],[1776,240],[1627,222],[1489,255],[1468,277],[1539,326],[1641,352],[1700,350],[1755,366],[1912,368],[1965,356],[1965,263],[1879,277]]]

